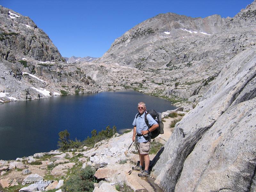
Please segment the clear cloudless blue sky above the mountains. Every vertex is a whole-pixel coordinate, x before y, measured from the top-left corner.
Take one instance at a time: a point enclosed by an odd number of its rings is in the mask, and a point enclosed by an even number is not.
[[[159,13],[233,17],[253,0],[0,0],[30,17],[63,57],[101,57],[114,40]]]

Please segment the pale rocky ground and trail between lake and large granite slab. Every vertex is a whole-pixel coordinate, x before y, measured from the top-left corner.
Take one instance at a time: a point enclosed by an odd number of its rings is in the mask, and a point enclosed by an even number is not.
[[[166,143],[172,134],[173,128],[170,123],[174,119],[181,119],[187,112],[178,111],[177,117],[167,118],[167,111],[162,115],[164,118],[164,134],[159,135],[151,145],[155,150],[150,154],[153,160],[158,150]],[[156,184],[154,178],[140,178],[138,171],[132,170],[132,166],[139,164],[139,155],[132,145],[128,153],[125,151],[131,144],[132,131],[119,135],[116,133],[113,138],[96,143],[93,148],[83,146],[77,150],[60,152],[58,150],[36,153],[33,156],[17,158],[16,161],[0,161],[0,184],[6,191],[60,191],[61,185],[74,172],[87,165],[96,169],[94,174],[98,183],[95,183],[94,192],[97,191],[117,191],[115,186],[118,184],[125,191],[148,191],[162,192]],[[158,147],[156,148],[155,145]],[[154,149],[155,148],[155,149]],[[39,163],[40,162],[40,163]],[[151,165],[154,164],[152,161]],[[34,184],[26,184],[24,181],[31,181]],[[11,182],[10,182],[11,181]],[[46,184],[35,184],[36,181],[44,181]]]

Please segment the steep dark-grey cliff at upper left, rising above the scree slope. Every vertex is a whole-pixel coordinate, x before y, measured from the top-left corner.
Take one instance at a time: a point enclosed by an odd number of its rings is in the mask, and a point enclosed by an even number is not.
[[[48,35],[28,17],[0,6],[0,24],[0,58],[64,61]]]

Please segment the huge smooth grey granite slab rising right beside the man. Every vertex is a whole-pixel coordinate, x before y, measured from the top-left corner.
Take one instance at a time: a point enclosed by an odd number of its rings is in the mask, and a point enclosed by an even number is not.
[[[164,191],[255,191],[255,63],[256,47],[236,55],[176,124],[153,168]]]

